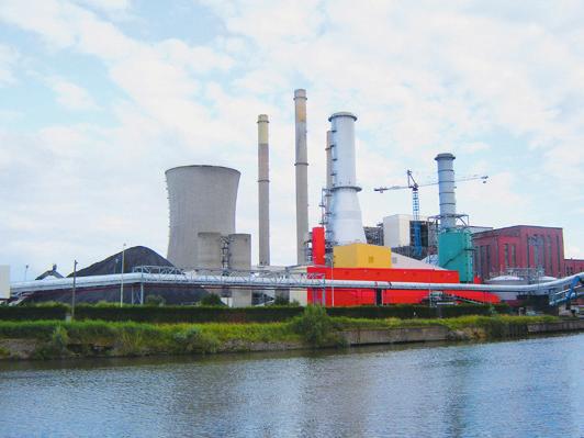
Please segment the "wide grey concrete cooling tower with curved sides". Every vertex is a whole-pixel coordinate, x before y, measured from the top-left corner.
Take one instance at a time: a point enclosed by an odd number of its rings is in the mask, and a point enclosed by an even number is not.
[[[167,258],[176,267],[199,267],[199,233],[235,233],[239,176],[235,169],[218,166],[181,166],[166,171],[170,211]]]

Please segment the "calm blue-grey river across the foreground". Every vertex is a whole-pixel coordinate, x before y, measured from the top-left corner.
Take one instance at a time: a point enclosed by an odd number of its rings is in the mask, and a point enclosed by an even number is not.
[[[0,437],[583,437],[584,334],[0,363]]]

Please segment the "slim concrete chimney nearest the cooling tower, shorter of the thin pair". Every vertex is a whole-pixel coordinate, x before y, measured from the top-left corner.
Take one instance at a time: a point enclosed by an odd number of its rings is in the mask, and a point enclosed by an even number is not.
[[[270,265],[270,150],[268,115],[258,115],[258,243],[259,266]]]

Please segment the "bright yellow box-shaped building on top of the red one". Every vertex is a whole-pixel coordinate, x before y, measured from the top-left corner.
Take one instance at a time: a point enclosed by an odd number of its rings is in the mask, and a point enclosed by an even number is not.
[[[391,268],[392,251],[384,246],[350,244],[333,248],[335,268]]]

